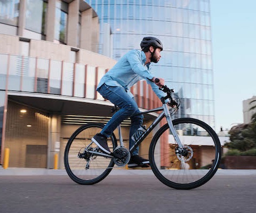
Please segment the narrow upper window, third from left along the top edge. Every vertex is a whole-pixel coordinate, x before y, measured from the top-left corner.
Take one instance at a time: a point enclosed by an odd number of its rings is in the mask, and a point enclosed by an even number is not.
[[[58,1],[56,4],[55,39],[62,44],[67,44],[67,20],[68,4]]]

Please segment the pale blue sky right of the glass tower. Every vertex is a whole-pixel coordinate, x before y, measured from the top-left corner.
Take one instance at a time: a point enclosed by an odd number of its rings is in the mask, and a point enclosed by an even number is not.
[[[215,130],[243,123],[243,100],[256,95],[256,1],[210,0]]]

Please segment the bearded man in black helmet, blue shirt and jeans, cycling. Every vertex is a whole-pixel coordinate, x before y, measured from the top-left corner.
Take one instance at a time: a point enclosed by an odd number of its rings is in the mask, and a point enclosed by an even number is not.
[[[107,138],[123,120],[129,117],[131,118],[129,149],[135,144],[133,140],[134,137],[132,136],[141,127],[143,122],[143,116],[141,114],[136,115],[140,111],[137,103],[134,101],[132,93],[129,91],[130,87],[139,80],[146,79],[159,99],[165,96],[165,93],[158,89],[158,87],[164,85],[164,79],[158,78],[159,81],[155,83],[156,77],[151,73],[151,62],[157,63],[160,60],[163,44],[157,38],[145,37],[140,43],[140,46],[141,51],[131,50],[126,53],[114,67],[101,78],[97,87],[97,91],[105,99],[114,103],[120,109],[108,121],[101,132],[92,138],[92,141],[97,144],[103,152],[108,154],[111,152],[108,148]],[[131,153],[128,167],[149,167],[149,160],[143,159],[138,153],[139,147]]]

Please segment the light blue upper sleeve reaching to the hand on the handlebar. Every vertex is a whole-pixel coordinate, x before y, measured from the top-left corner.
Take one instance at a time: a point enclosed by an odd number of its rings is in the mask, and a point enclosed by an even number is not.
[[[130,63],[132,70],[144,79],[152,79],[154,76],[141,64],[141,55],[139,52],[131,51],[127,55],[127,61]]]

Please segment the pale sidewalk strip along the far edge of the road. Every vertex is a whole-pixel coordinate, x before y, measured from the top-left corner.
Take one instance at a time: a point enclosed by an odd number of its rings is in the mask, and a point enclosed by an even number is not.
[[[65,169],[7,168],[0,167],[0,176],[7,175],[67,175]],[[113,169],[109,175],[154,175],[151,169]],[[255,175],[256,169],[219,169],[215,175]]]

